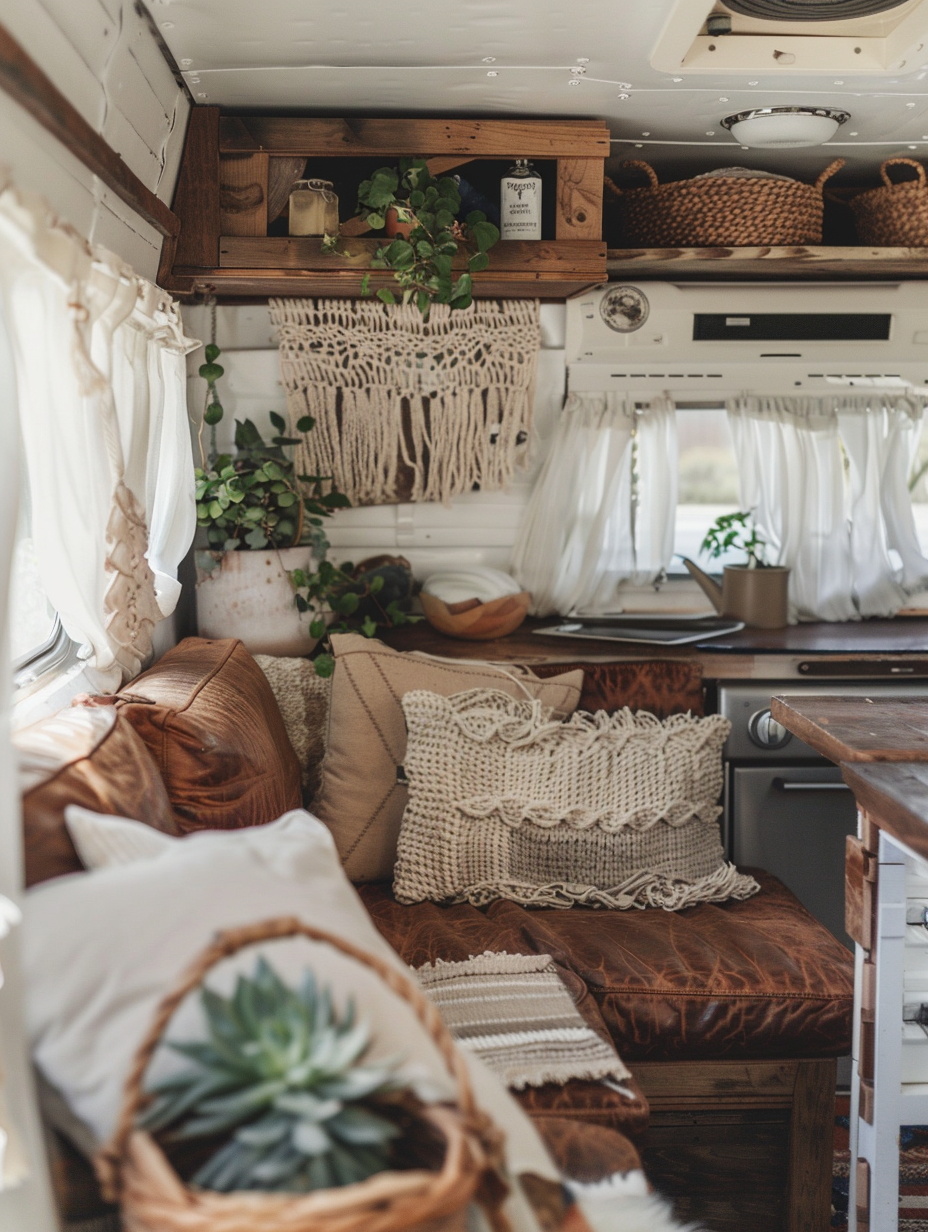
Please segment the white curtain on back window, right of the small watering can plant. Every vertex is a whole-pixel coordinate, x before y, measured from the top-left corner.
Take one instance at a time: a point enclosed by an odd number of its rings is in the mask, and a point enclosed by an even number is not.
[[[796,620],[891,616],[928,584],[908,474],[913,398],[754,398],[728,404],[742,509],[789,565]]]

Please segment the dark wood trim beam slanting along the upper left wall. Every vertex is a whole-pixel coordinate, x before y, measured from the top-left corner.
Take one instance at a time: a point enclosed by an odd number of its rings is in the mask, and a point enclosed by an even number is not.
[[[10,32],[0,25],[0,90],[23,107],[53,137],[80,159],[117,197],[165,239],[174,239],[180,223],[165,203],[123,163],[90,127]]]

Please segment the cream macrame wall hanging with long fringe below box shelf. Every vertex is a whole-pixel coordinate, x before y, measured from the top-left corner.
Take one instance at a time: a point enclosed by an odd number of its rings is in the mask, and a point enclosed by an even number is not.
[[[297,473],[354,505],[447,501],[505,487],[529,450],[536,301],[479,301],[428,322],[378,299],[272,299],[291,421],[315,429]]]

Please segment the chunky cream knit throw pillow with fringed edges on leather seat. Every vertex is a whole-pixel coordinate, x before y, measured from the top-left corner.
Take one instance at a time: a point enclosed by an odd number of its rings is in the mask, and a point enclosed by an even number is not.
[[[718,835],[720,715],[578,711],[493,689],[403,697],[409,803],[393,891],[532,907],[663,907],[748,898]]]

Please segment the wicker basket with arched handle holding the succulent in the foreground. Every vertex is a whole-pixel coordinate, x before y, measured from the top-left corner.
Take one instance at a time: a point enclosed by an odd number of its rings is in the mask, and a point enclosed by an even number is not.
[[[412,1005],[438,1045],[457,1087],[457,1106],[420,1105],[419,1112],[445,1140],[440,1170],[383,1172],[360,1184],[312,1194],[193,1190],[154,1138],[134,1127],[147,1099],[145,1071],[184,998],[223,958],[258,941],[288,936],[328,942],[371,967]],[[494,1232],[508,1232],[499,1211],[505,1194],[500,1158],[502,1136],[477,1108],[465,1062],[431,1002],[381,958],[298,919],[282,918],[221,933],[164,998],[126,1080],[116,1132],[97,1156],[96,1170],[107,1200],[120,1201],[124,1232],[465,1232],[467,1206],[474,1199]]]

